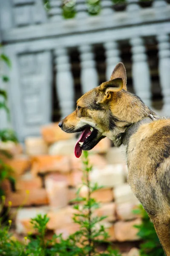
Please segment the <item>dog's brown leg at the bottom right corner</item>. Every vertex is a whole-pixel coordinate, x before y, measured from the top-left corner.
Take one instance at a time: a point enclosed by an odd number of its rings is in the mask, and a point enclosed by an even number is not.
[[[151,218],[166,256],[170,256],[170,219]]]

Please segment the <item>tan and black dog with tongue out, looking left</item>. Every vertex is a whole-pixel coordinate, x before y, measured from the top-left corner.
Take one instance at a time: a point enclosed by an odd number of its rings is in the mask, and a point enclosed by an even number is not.
[[[67,133],[82,132],[76,157],[104,137],[116,147],[127,145],[128,183],[170,256],[170,119],[156,116],[126,84],[124,64],[118,63],[110,80],[81,96],[59,126]]]

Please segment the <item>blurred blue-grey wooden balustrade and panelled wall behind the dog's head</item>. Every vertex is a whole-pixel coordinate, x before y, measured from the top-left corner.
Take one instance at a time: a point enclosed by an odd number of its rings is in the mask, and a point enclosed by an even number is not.
[[[166,0],[0,0],[0,42],[12,63],[5,86],[19,140],[71,113],[119,61],[128,90],[168,115],[169,34]]]

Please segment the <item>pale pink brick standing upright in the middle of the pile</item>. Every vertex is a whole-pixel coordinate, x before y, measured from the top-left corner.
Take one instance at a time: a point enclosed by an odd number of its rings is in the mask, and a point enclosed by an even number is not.
[[[45,177],[46,192],[51,207],[65,207],[69,203],[68,181],[64,175],[47,175]]]

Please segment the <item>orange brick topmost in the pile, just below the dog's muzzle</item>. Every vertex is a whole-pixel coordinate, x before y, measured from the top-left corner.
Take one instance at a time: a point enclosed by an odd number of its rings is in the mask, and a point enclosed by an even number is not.
[[[45,125],[41,128],[41,134],[46,143],[55,143],[58,140],[68,140],[73,138],[74,134],[68,134],[61,130],[58,123]]]

